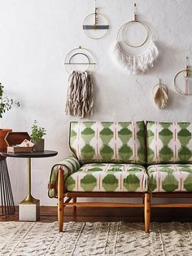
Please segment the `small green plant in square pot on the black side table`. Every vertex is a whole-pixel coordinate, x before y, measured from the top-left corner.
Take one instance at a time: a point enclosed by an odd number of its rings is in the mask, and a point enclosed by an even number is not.
[[[37,121],[33,122],[32,126],[32,134],[31,134],[31,141],[34,143],[34,151],[42,152],[44,151],[45,143],[43,136],[46,135],[46,129],[37,126]]]

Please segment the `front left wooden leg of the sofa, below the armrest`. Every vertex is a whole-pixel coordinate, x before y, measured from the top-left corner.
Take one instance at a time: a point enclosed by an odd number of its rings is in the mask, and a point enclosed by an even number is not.
[[[58,174],[58,224],[59,232],[63,232],[63,170]]]

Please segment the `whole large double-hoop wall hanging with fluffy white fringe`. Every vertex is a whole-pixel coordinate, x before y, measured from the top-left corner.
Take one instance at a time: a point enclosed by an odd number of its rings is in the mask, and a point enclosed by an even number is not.
[[[142,42],[133,44],[130,38],[126,36],[126,32],[131,25],[137,24],[140,30],[145,31],[145,38]],[[159,51],[153,42],[151,29],[144,22],[137,20],[136,4],[134,4],[134,19],[123,24],[116,36],[116,44],[113,47],[116,60],[121,67],[124,67],[127,73],[137,74],[145,72],[148,68],[153,67],[155,60],[159,55]],[[138,54],[135,50],[140,50]]]

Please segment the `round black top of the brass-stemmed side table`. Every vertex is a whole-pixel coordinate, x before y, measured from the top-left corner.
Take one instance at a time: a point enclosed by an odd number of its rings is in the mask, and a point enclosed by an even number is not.
[[[43,152],[33,153],[7,153],[1,152],[3,157],[22,157],[22,158],[41,158],[41,157],[55,157],[58,154],[57,151],[45,150]]]

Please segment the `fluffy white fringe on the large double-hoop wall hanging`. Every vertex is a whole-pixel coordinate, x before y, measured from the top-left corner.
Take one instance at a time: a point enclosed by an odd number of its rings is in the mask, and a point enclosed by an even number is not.
[[[145,72],[147,69],[152,68],[159,55],[159,51],[153,41],[148,50],[142,55],[129,55],[122,50],[120,42],[116,42],[114,53],[118,63],[126,68],[129,75],[135,75],[141,71]]]

